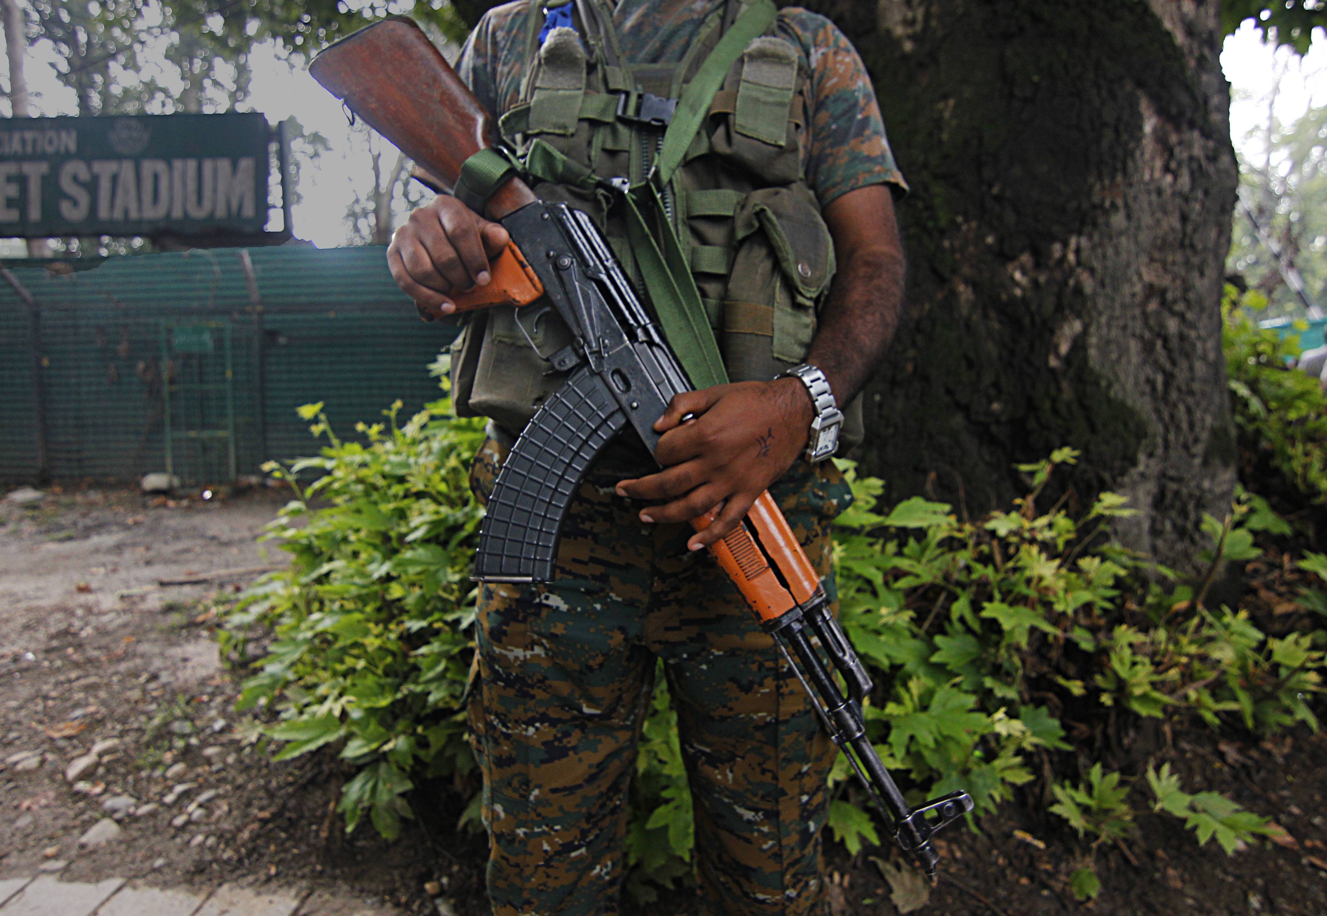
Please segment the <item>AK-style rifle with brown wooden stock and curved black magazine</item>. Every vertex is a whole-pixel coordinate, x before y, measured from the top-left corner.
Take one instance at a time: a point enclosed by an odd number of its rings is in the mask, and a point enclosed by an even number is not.
[[[390,17],[337,41],[309,73],[447,190],[460,180],[466,159],[492,146],[488,115],[409,19]],[[488,196],[484,215],[506,227],[511,245],[492,264],[487,286],[454,297],[458,310],[547,297],[575,342],[552,357],[553,367],[571,375],[498,475],[475,578],[547,582],[567,506],[600,449],[630,424],[653,452],[654,422],[691,384],[585,213],[539,200],[512,176]],[[703,530],[715,514],[691,524]],[[774,636],[829,736],[893,825],[898,846],[934,880],[930,836],[971,811],[973,799],[957,791],[917,809],[904,801],[867,738],[863,701],[871,677],[770,493],[710,550]]]

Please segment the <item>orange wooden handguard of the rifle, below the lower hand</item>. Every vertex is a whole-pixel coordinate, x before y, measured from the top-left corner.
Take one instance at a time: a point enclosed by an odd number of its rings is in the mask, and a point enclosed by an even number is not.
[[[718,514],[719,506],[715,506],[703,516],[693,518],[691,526],[703,532]],[[710,545],[710,553],[719,561],[719,566],[736,585],[762,623],[776,620],[805,603],[820,587],[820,577],[816,575],[815,567],[788,528],[788,520],[783,517],[770,490],[760,493],[742,525]],[[778,567],[778,574],[771,569],[771,563]]]

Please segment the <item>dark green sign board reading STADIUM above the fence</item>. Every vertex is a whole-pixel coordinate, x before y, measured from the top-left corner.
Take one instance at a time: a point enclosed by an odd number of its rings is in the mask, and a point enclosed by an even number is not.
[[[260,233],[260,113],[0,118],[0,236]]]

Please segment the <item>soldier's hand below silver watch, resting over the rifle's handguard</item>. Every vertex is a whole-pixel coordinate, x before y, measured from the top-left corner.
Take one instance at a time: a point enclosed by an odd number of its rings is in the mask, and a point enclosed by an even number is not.
[[[693,414],[695,419],[682,422]],[[701,550],[736,528],[770,484],[807,447],[815,411],[795,378],[738,382],[686,391],[654,423],[662,432],[660,473],[617,485],[620,496],[669,500],[641,510],[641,521],[685,522],[723,504],[718,518],[687,541]]]

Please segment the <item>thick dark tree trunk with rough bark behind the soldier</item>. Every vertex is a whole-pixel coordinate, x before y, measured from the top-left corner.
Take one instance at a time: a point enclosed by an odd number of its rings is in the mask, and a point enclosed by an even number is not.
[[[1015,463],[1072,445],[1079,505],[1127,494],[1127,546],[1188,566],[1235,480],[1218,4],[807,5],[861,52],[912,183],[910,305],[864,469],[975,516],[1024,492]]]

